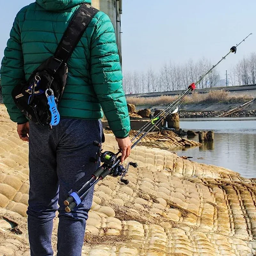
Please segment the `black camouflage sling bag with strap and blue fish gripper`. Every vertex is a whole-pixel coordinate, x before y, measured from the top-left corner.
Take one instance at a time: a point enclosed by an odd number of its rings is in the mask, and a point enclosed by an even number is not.
[[[59,124],[57,105],[67,81],[68,60],[97,12],[99,10],[90,4],[82,4],[75,12],[54,56],[36,68],[26,84],[19,84],[12,90],[16,106],[34,123],[47,127]]]

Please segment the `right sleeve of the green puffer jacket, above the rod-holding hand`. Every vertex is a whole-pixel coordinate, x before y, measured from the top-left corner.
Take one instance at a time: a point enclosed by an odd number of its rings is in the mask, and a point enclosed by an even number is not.
[[[114,27],[103,12],[98,12],[91,43],[91,78],[110,129],[118,138],[128,136],[130,117],[123,90],[123,75]]]

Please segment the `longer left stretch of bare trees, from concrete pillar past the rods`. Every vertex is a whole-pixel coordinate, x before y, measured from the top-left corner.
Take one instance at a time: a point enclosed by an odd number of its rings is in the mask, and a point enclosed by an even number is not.
[[[126,93],[183,90],[188,88],[189,84],[196,82],[211,67],[210,61],[205,58],[197,62],[189,60],[182,65],[170,61],[164,63],[159,72],[149,68],[145,73],[124,74],[124,89]],[[219,80],[219,72],[214,70],[200,82],[198,88],[213,87]]]

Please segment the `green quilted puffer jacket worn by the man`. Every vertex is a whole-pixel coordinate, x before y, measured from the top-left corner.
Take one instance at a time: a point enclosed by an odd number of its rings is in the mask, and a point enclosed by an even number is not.
[[[36,0],[17,14],[0,71],[4,104],[12,121],[26,121],[12,100],[12,89],[54,54],[82,3],[91,4],[91,0]],[[102,108],[116,137],[126,137],[130,118],[116,36],[108,15],[98,12],[94,16],[68,61],[68,71],[60,116],[100,119]]]

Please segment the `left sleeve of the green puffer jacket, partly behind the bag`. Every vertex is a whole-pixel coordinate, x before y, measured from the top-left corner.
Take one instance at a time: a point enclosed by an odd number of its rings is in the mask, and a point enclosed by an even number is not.
[[[0,74],[4,105],[7,108],[11,120],[16,123],[25,123],[27,121],[26,117],[16,107],[12,99],[13,88],[25,82],[18,15],[19,13],[14,20],[10,39],[4,50]]]

